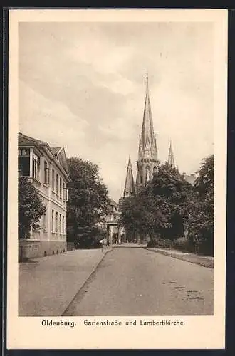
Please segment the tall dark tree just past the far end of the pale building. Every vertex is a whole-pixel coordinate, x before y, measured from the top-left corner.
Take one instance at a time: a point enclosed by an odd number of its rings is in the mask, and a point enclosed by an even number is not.
[[[100,179],[98,166],[78,157],[67,160],[71,183],[67,205],[68,241],[98,236],[97,224],[108,212],[108,190]]]

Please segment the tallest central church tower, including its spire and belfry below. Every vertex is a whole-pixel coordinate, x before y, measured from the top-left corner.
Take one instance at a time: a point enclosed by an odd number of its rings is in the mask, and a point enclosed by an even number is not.
[[[136,189],[140,189],[157,171],[157,142],[152,123],[148,76],[146,77],[145,109],[137,159]]]

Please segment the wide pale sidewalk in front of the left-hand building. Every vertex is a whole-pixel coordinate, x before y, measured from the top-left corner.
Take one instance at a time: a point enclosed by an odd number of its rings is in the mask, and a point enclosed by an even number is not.
[[[111,248],[19,263],[19,316],[60,316]]]

